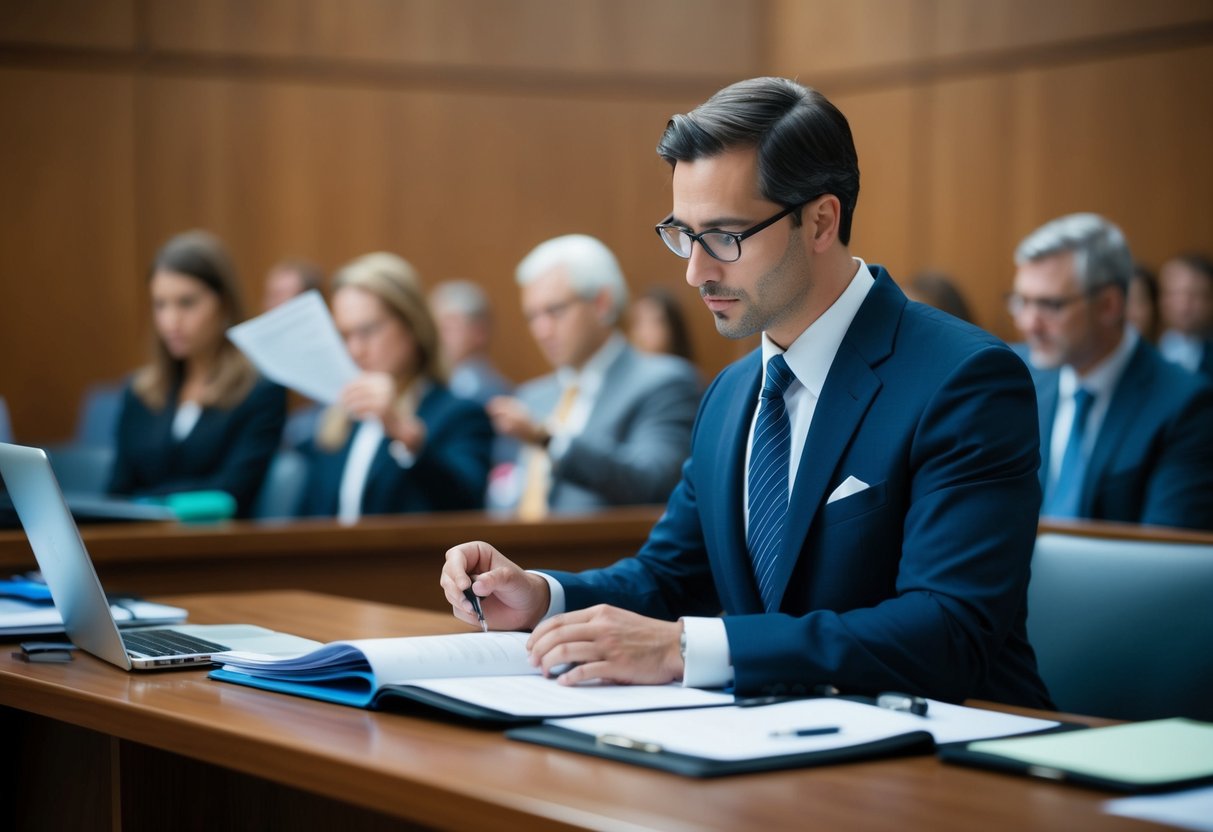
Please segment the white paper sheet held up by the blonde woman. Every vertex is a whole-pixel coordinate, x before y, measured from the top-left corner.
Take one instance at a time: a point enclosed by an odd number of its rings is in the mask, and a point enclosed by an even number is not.
[[[320,292],[312,290],[227,331],[263,376],[334,404],[359,376]]]

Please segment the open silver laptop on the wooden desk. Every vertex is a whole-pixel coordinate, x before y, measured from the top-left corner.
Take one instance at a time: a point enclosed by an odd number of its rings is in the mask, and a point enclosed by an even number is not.
[[[177,625],[120,632],[46,452],[0,443],[0,477],[68,638],[82,650],[124,669],[143,671],[206,665],[211,654],[224,650],[297,654],[320,646],[319,642],[254,625]]]

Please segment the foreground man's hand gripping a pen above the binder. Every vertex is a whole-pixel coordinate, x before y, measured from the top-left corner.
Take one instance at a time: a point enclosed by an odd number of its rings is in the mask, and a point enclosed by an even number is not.
[[[463,597],[463,591],[472,587],[480,597],[490,629],[531,629],[552,603],[546,580],[523,570],[483,541],[449,549],[439,585],[455,617],[479,626],[472,603]]]

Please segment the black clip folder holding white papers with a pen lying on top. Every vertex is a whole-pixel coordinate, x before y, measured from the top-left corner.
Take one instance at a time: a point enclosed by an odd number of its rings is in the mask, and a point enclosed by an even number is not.
[[[1050,730],[1058,723],[930,702],[916,716],[847,697],[762,707],[552,719],[506,731],[513,740],[690,777],[926,754],[944,742]],[[803,736],[801,734],[804,734]]]

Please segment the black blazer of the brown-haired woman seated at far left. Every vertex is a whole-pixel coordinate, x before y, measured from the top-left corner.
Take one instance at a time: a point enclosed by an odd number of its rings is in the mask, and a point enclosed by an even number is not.
[[[286,391],[258,380],[237,406],[204,408],[183,441],[172,438],[177,392],[169,392],[169,405],[150,410],[126,384],[109,491],[131,496],[227,491],[235,497],[237,517],[249,517],[278,450]]]

